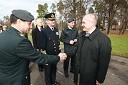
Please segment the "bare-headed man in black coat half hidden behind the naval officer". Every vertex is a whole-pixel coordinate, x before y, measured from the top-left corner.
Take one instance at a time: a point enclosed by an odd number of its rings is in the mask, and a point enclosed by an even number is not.
[[[43,29],[43,22],[41,18],[36,19],[36,27],[32,30],[32,42],[34,48],[41,51],[41,30]],[[39,71],[43,71],[43,65],[38,65]]]

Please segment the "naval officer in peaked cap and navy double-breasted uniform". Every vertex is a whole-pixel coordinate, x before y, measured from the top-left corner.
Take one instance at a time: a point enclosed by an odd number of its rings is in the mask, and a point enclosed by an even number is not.
[[[61,50],[59,48],[59,32],[55,27],[55,14],[49,13],[45,15],[47,26],[42,30],[42,49],[45,49],[49,55],[58,55]],[[44,47],[45,46],[45,47]],[[57,63],[50,63],[44,66],[46,85],[60,85],[56,82]]]

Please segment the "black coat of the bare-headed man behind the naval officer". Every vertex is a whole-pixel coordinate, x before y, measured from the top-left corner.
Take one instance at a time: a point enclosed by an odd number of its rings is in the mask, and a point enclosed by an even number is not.
[[[42,28],[43,29],[43,28]],[[40,36],[41,31],[39,31],[38,27],[34,28],[32,30],[32,41],[33,41],[33,46],[36,49],[41,49],[41,36]]]

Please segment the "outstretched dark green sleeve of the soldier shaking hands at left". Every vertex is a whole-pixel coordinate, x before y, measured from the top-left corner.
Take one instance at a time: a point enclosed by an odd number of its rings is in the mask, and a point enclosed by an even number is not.
[[[16,54],[18,57],[24,58],[37,64],[48,64],[51,62],[59,61],[59,56],[46,55],[33,48],[31,42],[28,39],[23,39],[16,48]]]

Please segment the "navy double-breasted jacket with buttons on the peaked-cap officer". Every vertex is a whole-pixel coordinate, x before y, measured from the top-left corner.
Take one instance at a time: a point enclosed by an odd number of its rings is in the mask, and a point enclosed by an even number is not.
[[[41,45],[47,54],[58,55],[61,51],[58,29],[54,27],[54,31],[52,31],[49,26],[45,27],[41,31]]]

